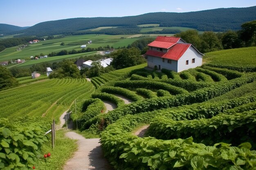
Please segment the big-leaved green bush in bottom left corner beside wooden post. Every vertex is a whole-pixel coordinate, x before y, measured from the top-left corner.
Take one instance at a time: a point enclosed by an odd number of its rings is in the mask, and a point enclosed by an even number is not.
[[[41,148],[49,142],[45,132],[50,122],[43,118],[24,117],[10,122],[0,119],[0,168],[2,170],[25,170],[38,163]]]

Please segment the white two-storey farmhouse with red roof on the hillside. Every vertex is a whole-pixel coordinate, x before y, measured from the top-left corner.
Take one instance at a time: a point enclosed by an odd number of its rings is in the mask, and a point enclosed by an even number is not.
[[[192,44],[178,37],[158,36],[148,44],[148,67],[181,72],[202,65],[203,55]]]

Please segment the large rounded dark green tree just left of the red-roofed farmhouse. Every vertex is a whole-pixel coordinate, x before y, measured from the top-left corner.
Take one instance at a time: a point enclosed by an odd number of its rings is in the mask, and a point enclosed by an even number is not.
[[[113,57],[112,65],[116,69],[126,68],[130,66],[135,66],[146,62],[144,58],[141,57],[141,52],[139,49],[132,47],[130,49],[121,49],[111,53]]]

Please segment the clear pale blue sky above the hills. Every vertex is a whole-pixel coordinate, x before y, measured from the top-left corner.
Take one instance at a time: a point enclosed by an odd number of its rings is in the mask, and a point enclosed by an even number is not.
[[[0,23],[33,26],[80,17],[122,17],[150,12],[190,12],[252,7],[255,0],[0,0]]]

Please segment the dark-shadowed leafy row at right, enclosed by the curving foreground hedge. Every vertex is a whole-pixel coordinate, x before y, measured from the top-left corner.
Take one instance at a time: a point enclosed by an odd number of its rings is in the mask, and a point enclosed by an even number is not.
[[[255,104],[254,102],[254,106]],[[164,116],[157,116],[150,121],[149,135],[153,137],[161,135],[159,139],[165,140],[186,139],[192,136],[196,143],[206,145],[219,142],[233,146],[238,146],[243,142],[255,144],[256,124],[253,123],[256,119],[255,109],[231,115],[222,113],[210,119],[199,120],[174,121]],[[152,132],[155,135],[152,135]]]

